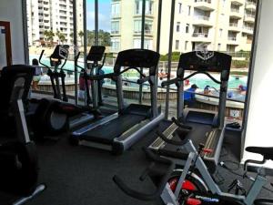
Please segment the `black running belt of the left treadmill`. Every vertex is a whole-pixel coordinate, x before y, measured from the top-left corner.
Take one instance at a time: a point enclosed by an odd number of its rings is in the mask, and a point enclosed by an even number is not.
[[[106,124],[90,129],[82,135],[82,139],[111,144],[114,138],[119,137],[145,118],[146,116],[124,114]]]

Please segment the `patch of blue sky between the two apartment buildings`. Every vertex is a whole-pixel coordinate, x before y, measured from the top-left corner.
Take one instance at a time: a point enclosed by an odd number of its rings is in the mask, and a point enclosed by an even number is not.
[[[95,29],[95,0],[86,0],[87,29]],[[111,0],[98,1],[98,29],[111,30]]]

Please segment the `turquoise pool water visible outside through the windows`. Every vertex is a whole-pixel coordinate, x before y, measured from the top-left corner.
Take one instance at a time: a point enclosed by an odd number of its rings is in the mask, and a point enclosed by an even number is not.
[[[33,58],[38,58],[39,56],[37,55],[30,55],[30,62],[32,61]],[[45,65],[49,66],[49,59],[44,57],[42,59],[42,62],[45,63]],[[84,63],[79,62],[78,65],[80,67],[84,67]],[[67,70],[71,70],[74,71],[74,62],[73,61],[67,61],[66,62],[66,68]],[[79,69],[80,70],[80,69]],[[103,67],[104,72],[107,73],[111,73],[113,72],[113,67]],[[126,79],[131,80],[136,82],[137,78],[136,77],[126,77]],[[217,76],[217,79],[219,80],[219,75]],[[247,80],[248,77],[239,77],[238,79],[234,76],[230,76],[229,80],[228,80],[228,89],[234,89],[237,88],[239,85],[243,85],[246,86],[247,85]],[[189,79],[190,84],[197,84],[197,87],[199,88],[204,88],[206,86],[210,86],[210,87],[216,87],[217,89],[220,87],[217,83],[213,82],[209,77],[199,74],[195,77],[191,77]],[[110,81],[106,81],[106,83],[111,83]],[[161,82],[158,82],[158,85],[160,85]],[[128,84],[127,86],[129,87],[138,87],[137,84]],[[172,86],[173,88],[175,88],[175,86]]]

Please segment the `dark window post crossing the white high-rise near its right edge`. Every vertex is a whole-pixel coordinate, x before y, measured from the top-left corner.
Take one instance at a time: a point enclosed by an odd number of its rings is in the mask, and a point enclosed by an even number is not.
[[[76,0],[73,1],[73,37],[74,37],[74,46],[77,47],[77,29],[76,29]],[[76,49],[74,49],[74,56],[76,56]],[[78,104],[78,95],[77,95],[77,67],[76,67],[76,57],[74,58],[74,74],[75,74],[75,104]]]

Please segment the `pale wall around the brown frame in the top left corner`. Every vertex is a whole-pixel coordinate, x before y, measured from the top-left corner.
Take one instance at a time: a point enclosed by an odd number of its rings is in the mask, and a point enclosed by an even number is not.
[[[0,20],[10,22],[13,64],[25,64],[22,1],[1,0]]]

